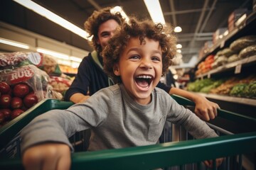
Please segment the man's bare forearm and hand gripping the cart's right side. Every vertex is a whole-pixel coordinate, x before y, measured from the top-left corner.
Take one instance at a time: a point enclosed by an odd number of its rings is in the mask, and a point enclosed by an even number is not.
[[[169,94],[176,94],[196,103],[195,113],[196,115],[203,120],[214,119],[217,116],[217,108],[220,108],[217,103],[208,101],[204,96],[193,94],[191,92],[172,87],[169,91]]]

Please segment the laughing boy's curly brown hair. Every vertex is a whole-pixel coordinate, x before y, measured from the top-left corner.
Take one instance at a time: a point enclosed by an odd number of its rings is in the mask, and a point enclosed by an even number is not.
[[[163,26],[161,23],[155,24],[153,21],[138,21],[137,18],[130,18],[129,23],[123,23],[117,28],[109,44],[102,52],[104,61],[104,71],[115,83],[120,83],[120,77],[114,75],[114,64],[119,62],[119,57],[127,46],[129,38],[139,38],[141,45],[145,44],[144,38],[159,41],[162,51],[163,75],[171,65],[171,59],[176,54],[176,36],[171,26]]]

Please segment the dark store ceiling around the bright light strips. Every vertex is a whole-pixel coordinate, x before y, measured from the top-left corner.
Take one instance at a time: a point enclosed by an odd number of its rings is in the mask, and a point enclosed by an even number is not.
[[[83,23],[93,11],[106,6],[122,6],[127,15],[149,18],[143,0],[40,0],[38,4],[57,13],[83,29]],[[92,50],[87,40],[78,37],[46,18],[30,11],[14,1],[1,0],[1,21],[31,30],[60,42],[65,42],[84,50]],[[193,55],[218,28],[228,26],[228,16],[236,8],[252,9],[252,0],[160,0],[166,22],[181,26],[177,33],[181,43],[183,62],[189,62]]]

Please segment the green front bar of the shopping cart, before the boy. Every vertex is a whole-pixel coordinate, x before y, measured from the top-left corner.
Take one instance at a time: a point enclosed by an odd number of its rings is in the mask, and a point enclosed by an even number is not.
[[[155,169],[256,151],[256,132],[157,145],[72,154],[71,169]],[[206,152],[207,150],[207,152]],[[193,154],[191,154],[193,153]],[[131,163],[132,162],[132,163]],[[0,159],[3,169],[23,169],[21,159]]]

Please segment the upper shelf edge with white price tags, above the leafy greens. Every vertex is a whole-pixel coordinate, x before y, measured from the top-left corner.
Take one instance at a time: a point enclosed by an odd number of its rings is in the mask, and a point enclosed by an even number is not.
[[[229,70],[229,69],[235,69],[236,67],[247,66],[248,64],[253,64],[253,63],[256,63],[256,55],[253,55],[251,57],[247,57],[247,58],[242,59],[242,60],[238,60],[236,62],[230,62],[228,64],[224,64],[220,67],[217,67],[216,69],[211,69],[209,72],[206,72],[204,74],[200,74],[196,78],[197,79],[200,79],[200,78],[203,78],[203,77],[210,78],[211,74],[217,74],[219,72],[225,72],[226,70]]]

